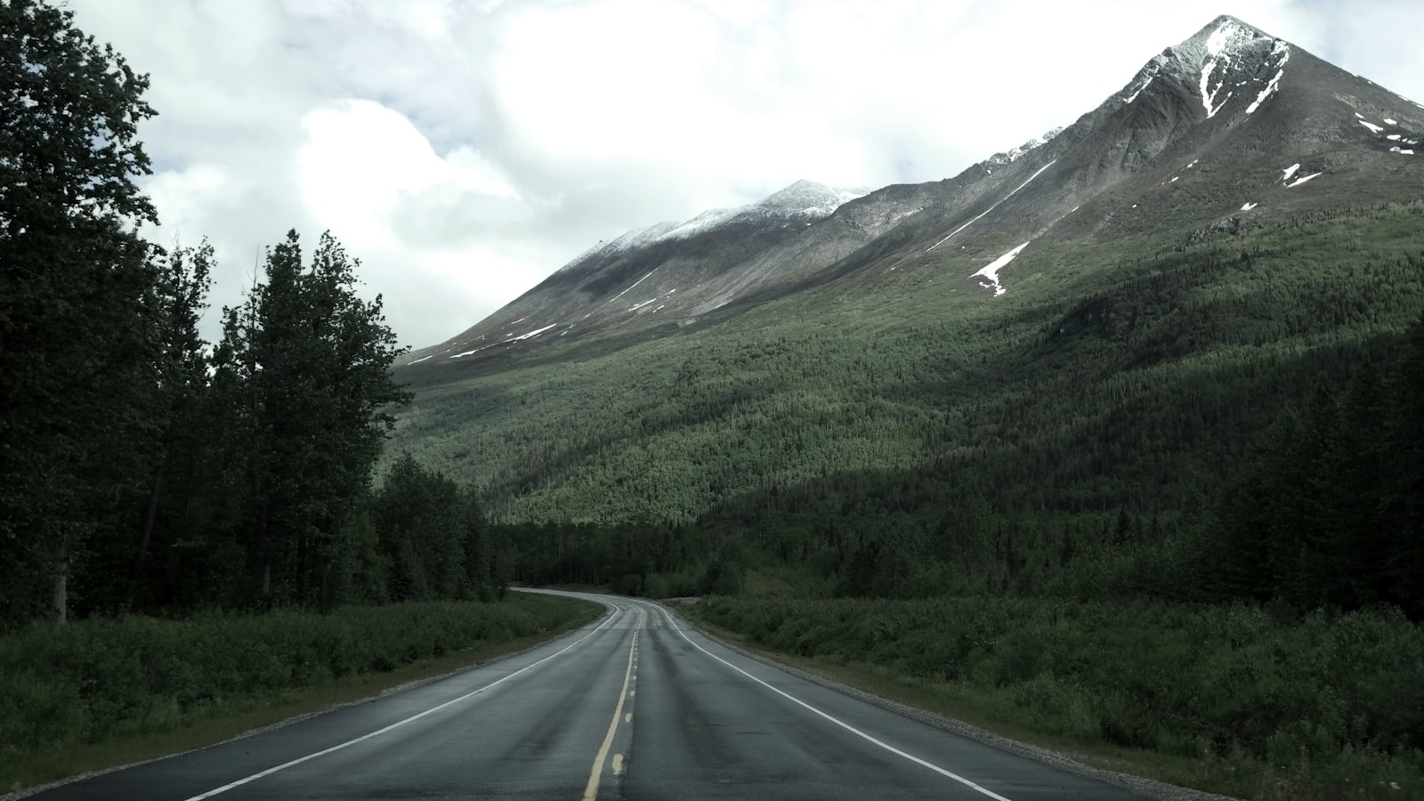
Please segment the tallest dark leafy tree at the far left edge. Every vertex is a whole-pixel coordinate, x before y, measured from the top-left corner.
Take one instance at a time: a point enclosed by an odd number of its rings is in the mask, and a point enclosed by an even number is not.
[[[0,0],[0,614],[70,607],[70,564],[142,482],[154,275],[135,177],[148,78],[36,0]],[[46,590],[47,589],[47,590]]]

